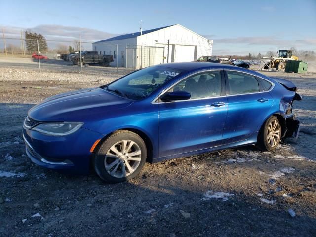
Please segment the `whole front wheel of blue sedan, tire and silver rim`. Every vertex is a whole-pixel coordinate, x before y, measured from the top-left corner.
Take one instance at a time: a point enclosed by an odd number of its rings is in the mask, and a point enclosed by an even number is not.
[[[135,178],[146,158],[144,140],[134,132],[118,130],[99,146],[93,158],[93,167],[102,180],[119,183]]]

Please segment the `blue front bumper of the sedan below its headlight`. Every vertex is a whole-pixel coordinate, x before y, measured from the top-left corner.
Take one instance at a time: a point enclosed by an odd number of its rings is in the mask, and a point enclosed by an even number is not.
[[[36,164],[72,173],[88,173],[90,148],[103,136],[100,133],[80,128],[73,134],[56,137],[23,128],[27,156]]]

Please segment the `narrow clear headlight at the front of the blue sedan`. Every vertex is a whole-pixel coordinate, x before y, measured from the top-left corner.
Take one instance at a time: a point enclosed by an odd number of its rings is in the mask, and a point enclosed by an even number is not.
[[[40,123],[32,128],[32,130],[52,136],[65,136],[76,132],[82,125],[82,122],[47,122]]]

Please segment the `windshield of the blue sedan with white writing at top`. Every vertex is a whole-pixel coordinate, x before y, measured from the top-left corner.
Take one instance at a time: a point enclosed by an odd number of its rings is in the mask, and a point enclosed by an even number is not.
[[[104,89],[129,99],[140,100],[183,72],[169,67],[147,67],[112,82]]]

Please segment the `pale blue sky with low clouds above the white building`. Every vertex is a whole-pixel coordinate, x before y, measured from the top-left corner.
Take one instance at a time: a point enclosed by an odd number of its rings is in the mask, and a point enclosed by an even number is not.
[[[104,40],[181,24],[214,40],[213,55],[316,51],[316,0],[0,0],[6,37],[20,29],[47,40]],[[7,9],[7,10],[5,10]]]

